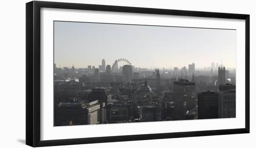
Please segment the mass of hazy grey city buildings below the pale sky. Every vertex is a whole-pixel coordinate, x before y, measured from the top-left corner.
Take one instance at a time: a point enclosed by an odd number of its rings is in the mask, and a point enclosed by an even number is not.
[[[54,125],[236,117],[236,71],[210,65],[210,71],[196,70],[192,63],[187,72],[135,67],[123,59],[101,70],[54,64]]]

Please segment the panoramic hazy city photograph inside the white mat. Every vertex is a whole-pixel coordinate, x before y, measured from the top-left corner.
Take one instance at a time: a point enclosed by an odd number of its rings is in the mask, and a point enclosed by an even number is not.
[[[236,118],[236,30],[54,21],[54,126]]]

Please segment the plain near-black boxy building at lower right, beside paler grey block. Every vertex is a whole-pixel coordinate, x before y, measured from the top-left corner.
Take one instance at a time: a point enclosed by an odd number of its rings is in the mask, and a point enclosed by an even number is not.
[[[218,118],[218,94],[214,91],[197,94],[198,119]]]

